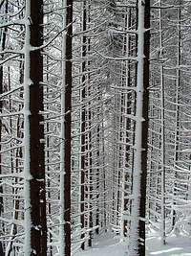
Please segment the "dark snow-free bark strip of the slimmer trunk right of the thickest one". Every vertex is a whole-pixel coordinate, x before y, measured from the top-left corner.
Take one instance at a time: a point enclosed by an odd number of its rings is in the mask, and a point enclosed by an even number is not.
[[[72,129],[72,35],[73,0],[66,2],[66,72],[65,72],[65,123],[64,123],[64,232],[65,256],[71,255],[71,129]]]

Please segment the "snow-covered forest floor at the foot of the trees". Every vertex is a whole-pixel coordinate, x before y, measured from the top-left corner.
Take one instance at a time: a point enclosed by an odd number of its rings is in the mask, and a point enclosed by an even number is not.
[[[146,240],[146,256],[191,256],[191,238],[170,236],[165,245],[157,233],[150,233]],[[126,256],[127,244],[118,236],[108,233],[94,240],[93,247],[78,252],[76,256]]]

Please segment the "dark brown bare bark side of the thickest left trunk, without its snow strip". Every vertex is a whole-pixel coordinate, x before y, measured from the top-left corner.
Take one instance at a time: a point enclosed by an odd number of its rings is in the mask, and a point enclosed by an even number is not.
[[[43,0],[31,0],[30,44],[43,44]],[[45,154],[43,116],[43,57],[40,50],[30,52],[29,129],[30,129],[30,200],[31,200],[31,255],[47,255]],[[29,81],[27,81],[29,82]],[[25,84],[26,86],[26,84]],[[26,95],[25,95],[26,97]],[[30,223],[29,223],[30,224]]]

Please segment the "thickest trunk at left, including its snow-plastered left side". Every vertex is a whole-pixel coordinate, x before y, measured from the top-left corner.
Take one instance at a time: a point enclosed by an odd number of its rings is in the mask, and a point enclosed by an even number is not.
[[[26,1],[24,69],[25,255],[47,254],[43,124],[43,1]],[[33,48],[36,47],[36,50]]]

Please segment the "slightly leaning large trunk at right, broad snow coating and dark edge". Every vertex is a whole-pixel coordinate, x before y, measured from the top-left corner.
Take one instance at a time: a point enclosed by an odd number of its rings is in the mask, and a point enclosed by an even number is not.
[[[145,204],[148,136],[150,1],[138,0],[138,70],[135,158],[129,253],[145,255]]]

